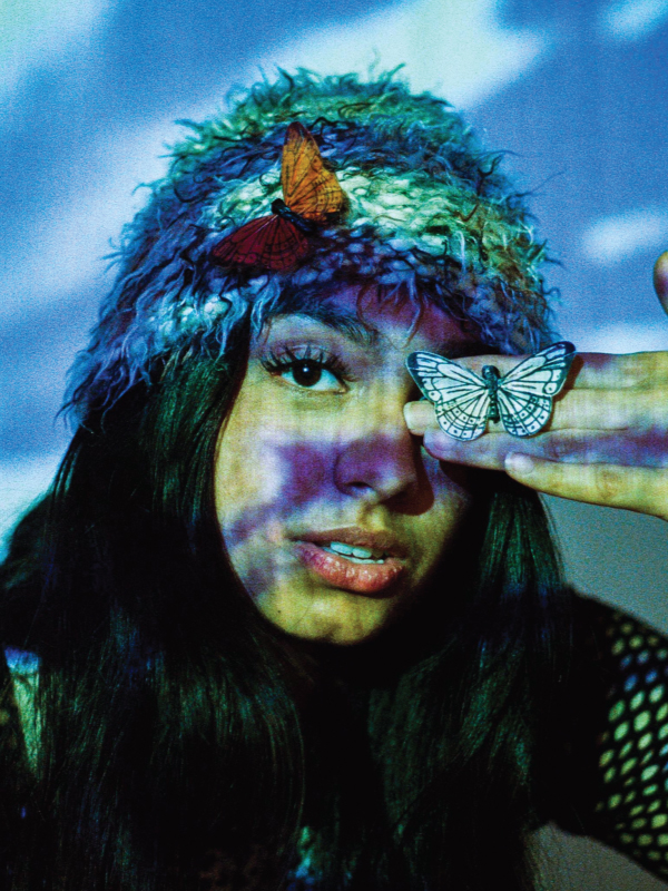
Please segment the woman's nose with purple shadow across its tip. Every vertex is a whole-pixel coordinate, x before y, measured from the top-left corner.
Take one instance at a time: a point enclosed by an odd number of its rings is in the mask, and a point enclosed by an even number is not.
[[[385,393],[360,412],[356,429],[341,446],[334,482],[345,495],[371,502],[410,495],[419,482],[419,446],[404,415],[405,399],[390,400]]]

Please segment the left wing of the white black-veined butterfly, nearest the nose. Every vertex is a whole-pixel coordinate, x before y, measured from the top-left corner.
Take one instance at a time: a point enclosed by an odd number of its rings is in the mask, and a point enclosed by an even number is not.
[[[463,442],[484,433],[490,393],[482,378],[436,353],[411,353],[406,366],[445,433]]]

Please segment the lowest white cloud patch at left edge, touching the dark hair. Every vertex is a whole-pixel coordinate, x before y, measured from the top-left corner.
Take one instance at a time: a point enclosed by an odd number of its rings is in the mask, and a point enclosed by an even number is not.
[[[0,461],[0,559],[17,520],[49,488],[61,458],[55,452]]]

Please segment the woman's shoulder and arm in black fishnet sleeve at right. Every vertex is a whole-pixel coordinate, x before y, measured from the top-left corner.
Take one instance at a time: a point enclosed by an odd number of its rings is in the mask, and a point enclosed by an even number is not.
[[[567,686],[570,831],[622,851],[665,878],[668,868],[668,639],[589,598],[574,603]]]

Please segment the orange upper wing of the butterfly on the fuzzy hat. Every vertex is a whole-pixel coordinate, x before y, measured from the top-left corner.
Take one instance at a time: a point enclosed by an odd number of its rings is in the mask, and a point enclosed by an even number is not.
[[[317,143],[301,124],[287,128],[281,185],[289,209],[314,223],[325,223],[330,214],[337,213],[346,203],[336,176],[323,164]]]

